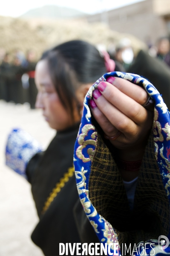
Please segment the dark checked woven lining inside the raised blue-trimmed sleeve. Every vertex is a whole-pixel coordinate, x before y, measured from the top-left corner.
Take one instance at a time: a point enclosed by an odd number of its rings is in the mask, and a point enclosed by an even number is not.
[[[133,212],[128,205],[114,152],[106,143],[98,134],[89,178],[89,199],[93,206],[112,224],[120,245],[158,239],[160,234],[167,236],[170,207],[155,157],[153,134],[150,134],[145,149]]]

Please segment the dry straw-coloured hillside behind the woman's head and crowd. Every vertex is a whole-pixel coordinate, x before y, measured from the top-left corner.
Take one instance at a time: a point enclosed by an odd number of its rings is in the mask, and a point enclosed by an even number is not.
[[[41,53],[54,45],[73,39],[81,39],[92,44],[117,44],[121,38],[130,38],[135,52],[144,49],[143,42],[133,35],[112,31],[101,23],[87,23],[84,20],[22,20],[0,17],[0,48],[12,52],[16,49],[24,53],[29,49]]]

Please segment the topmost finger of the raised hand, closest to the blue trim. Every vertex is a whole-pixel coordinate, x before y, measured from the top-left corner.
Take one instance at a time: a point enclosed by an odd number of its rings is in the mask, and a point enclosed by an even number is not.
[[[134,99],[140,105],[144,105],[147,102],[148,94],[144,88],[136,86],[136,84],[133,84],[130,81],[117,77],[109,77],[106,81],[113,84],[116,88],[118,88],[118,90]]]

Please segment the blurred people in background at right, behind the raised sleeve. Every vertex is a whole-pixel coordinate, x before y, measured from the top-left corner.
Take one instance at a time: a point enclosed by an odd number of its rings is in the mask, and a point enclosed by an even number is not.
[[[124,72],[138,74],[154,84],[170,109],[170,38],[158,38],[156,44],[148,40],[146,44],[147,50],[135,53],[130,39],[123,38],[108,51]]]

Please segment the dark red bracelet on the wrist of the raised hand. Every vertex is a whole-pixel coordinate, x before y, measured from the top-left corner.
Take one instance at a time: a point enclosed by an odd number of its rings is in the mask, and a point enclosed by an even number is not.
[[[126,171],[139,171],[141,167],[142,160],[129,162],[124,160],[116,160],[118,168],[124,169]]]

